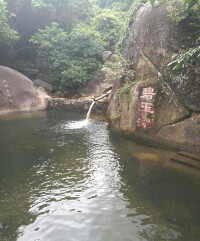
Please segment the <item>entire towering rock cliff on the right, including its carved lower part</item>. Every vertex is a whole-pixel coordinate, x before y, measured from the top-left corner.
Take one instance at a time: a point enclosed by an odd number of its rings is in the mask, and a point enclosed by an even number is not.
[[[125,51],[134,84],[119,95],[126,80],[116,81],[108,121],[118,130],[149,142],[200,153],[200,79],[198,66],[173,71],[175,53],[193,47],[199,36],[189,20],[178,25],[167,4],[146,3],[137,13]],[[130,98],[131,97],[131,98]]]

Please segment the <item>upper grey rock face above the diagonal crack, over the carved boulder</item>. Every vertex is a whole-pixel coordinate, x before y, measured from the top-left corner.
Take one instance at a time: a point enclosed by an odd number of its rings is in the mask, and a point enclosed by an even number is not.
[[[152,8],[146,3],[137,13],[125,56],[137,68],[141,55],[145,55],[161,73],[178,99],[190,110],[200,111],[200,72],[198,66],[187,66],[173,71],[172,56],[194,47],[200,35],[186,19],[178,25],[169,16],[167,4]],[[192,41],[191,41],[192,40]]]

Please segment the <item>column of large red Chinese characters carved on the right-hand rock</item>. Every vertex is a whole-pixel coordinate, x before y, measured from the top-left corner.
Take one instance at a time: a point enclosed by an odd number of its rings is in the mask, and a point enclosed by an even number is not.
[[[140,103],[139,112],[141,112],[141,117],[137,119],[137,126],[144,129],[151,128],[151,119],[148,117],[149,114],[153,114],[153,96],[156,95],[154,88],[143,88],[142,96],[140,96],[143,101]],[[146,101],[145,101],[146,100]]]

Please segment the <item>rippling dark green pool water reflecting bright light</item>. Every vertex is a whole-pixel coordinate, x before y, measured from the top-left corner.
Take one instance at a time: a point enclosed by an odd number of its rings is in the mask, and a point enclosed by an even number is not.
[[[199,179],[84,117],[0,117],[0,241],[199,241]]]

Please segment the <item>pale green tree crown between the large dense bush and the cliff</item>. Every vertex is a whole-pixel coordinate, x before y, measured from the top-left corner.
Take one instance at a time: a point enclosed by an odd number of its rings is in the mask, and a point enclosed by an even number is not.
[[[122,13],[103,9],[92,20],[92,25],[101,34],[106,49],[113,50],[122,27]]]

